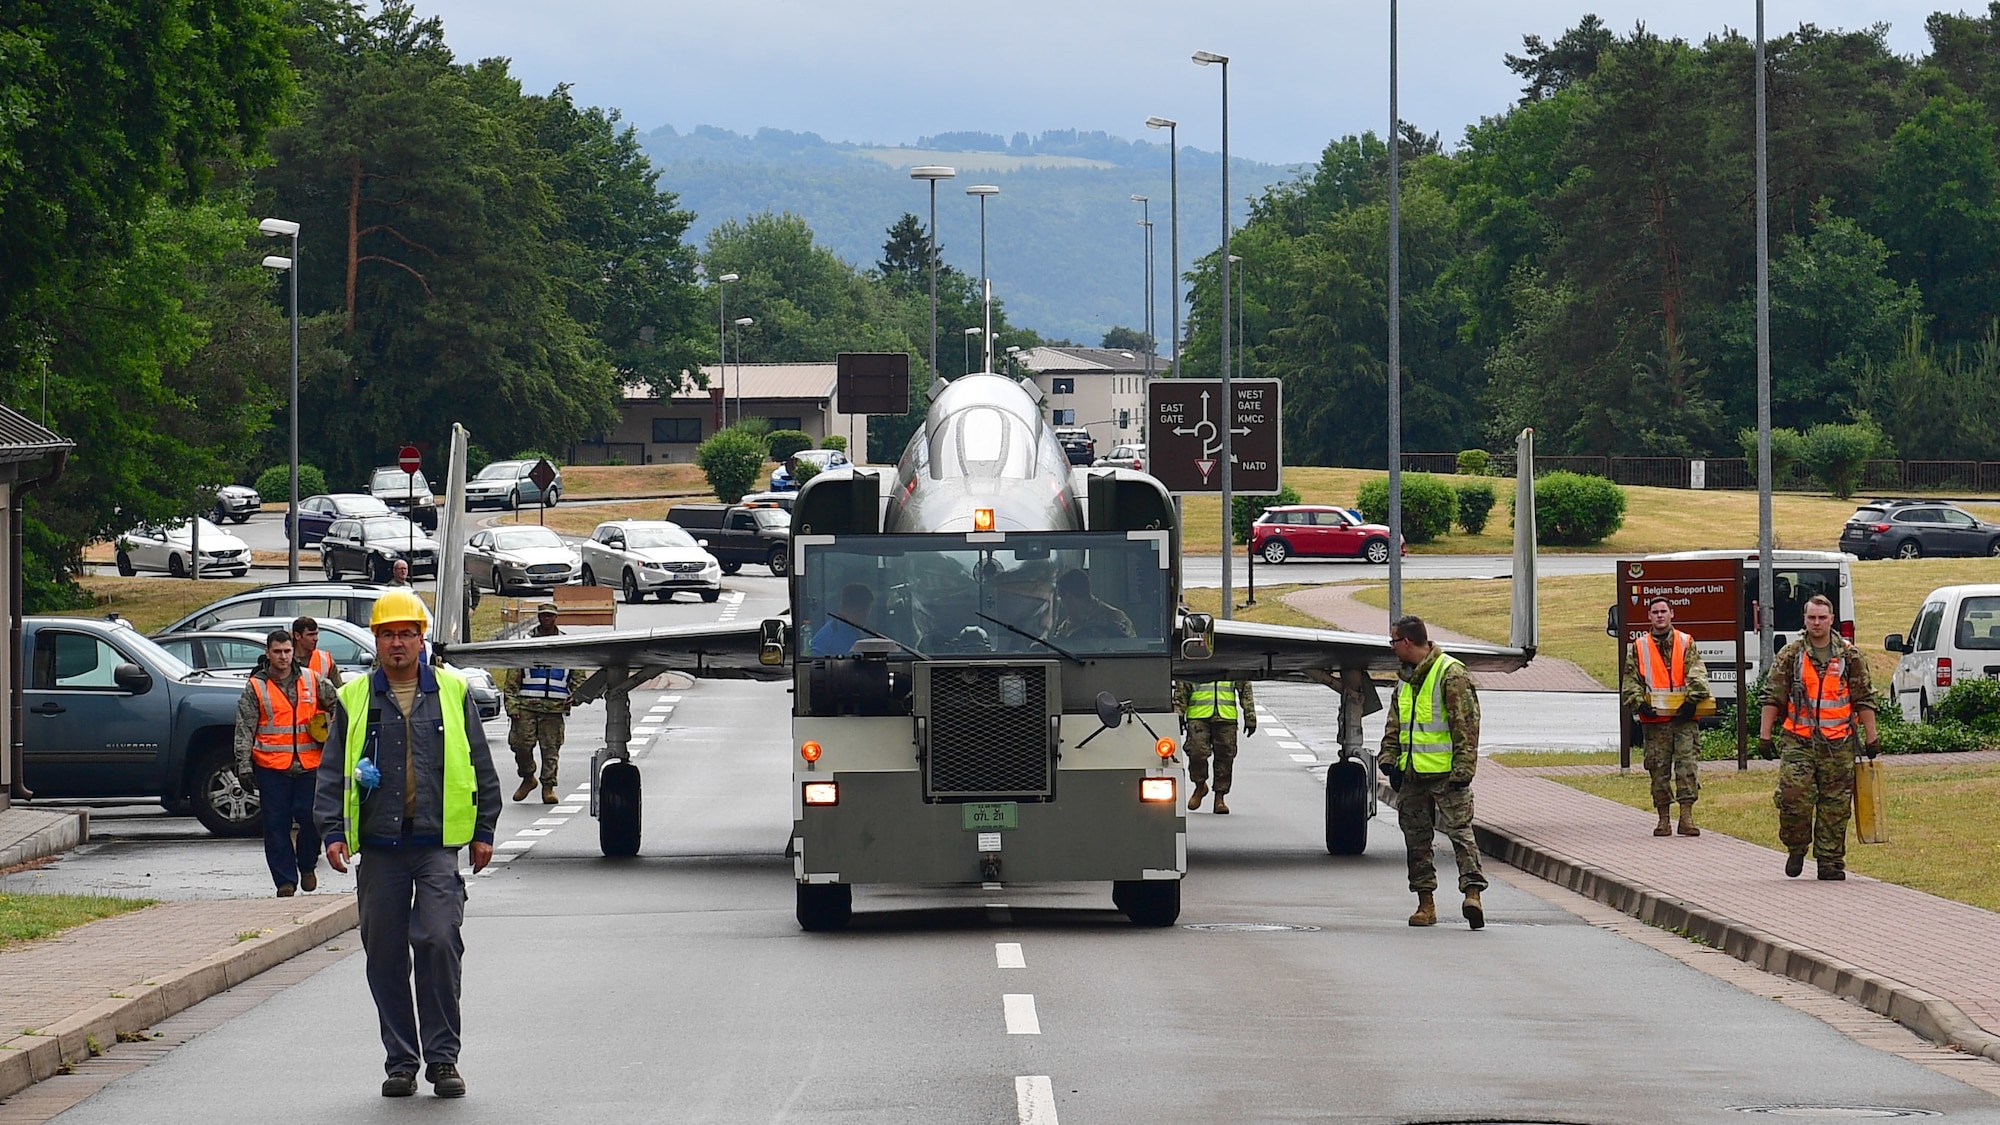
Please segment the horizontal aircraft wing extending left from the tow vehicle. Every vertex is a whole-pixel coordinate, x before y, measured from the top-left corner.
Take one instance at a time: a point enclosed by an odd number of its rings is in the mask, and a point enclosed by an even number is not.
[[[514,641],[480,641],[474,645],[444,645],[444,657],[454,665],[480,669],[526,669],[550,665],[558,669],[668,669],[708,679],[790,679],[790,663],[766,667],[758,663],[758,621],[734,625],[672,625],[666,629],[634,629],[626,633],[580,633],[574,637],[520,637]]]

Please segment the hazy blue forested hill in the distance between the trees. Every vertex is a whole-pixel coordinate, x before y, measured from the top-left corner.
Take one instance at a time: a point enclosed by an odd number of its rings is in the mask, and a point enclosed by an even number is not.
[[[994,296],[1008,318],[1052,338],[1096,344],[1114,324],[1140,326],[1144,308],[1144,232],[1140,204],[1154,220],[1160,352],[1170,332],[1168,304],[1168,152],[1104,132],[1044,132],[1012,138],[956,132],[914,146],[822,140],[810,132],[762,128],[756,136],[700,126],[662,126],[642,134],[660,184],[696,214],[688,236],[700,242],[724,218],[762,210],[800,214],[818,240],[868,268],[882,256],[888,226],[902,212],[928,222],[930,192],[910,178],[916,164],[950,164],[956,180],[938,184],[942,258],[978,276],[980,206],[972,184],[996,184],[986,202],[986,262]],[[1290,178],[1276,164],[1232,160],[1236,222],[1264,186]],[[1222,240],[1222,158],[1180,152],[1180,260],[1188,264]]]

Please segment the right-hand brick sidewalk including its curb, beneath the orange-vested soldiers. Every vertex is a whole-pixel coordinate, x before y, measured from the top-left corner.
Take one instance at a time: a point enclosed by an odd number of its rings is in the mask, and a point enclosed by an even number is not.
[[[1786,879],[1782,853],[1720,833],[1654,837],[1652,813],[1492,761],[1476,795],[1490,855],[2000,1061],[2000,915],[1866,875],[1820,883],[1810,863]]]

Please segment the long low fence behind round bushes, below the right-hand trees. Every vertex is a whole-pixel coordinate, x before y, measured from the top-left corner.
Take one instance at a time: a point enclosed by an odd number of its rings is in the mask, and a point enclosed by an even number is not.
[[[1584,472],[1606,476],[1618,484],[1646,484],[1654,488],[1690,488],[1694,466],[1702,466],[1704,488],[1750,490],[1756,488],[1756,466],[1742,456],[1536,456],[1536,474],[1542,472]],[[1406,452],[1404,472],[1440,472],[1458,468],[1456,452]],[[1494,456],[1492,472],[1514,474],[1512,456]],[[1824,490],[1802,464],[1792,464],[1778,472],[1772,482],[1786,492]],[[1862,470],[1862,492],[2000,492],[2000,460],[1870,460]]]

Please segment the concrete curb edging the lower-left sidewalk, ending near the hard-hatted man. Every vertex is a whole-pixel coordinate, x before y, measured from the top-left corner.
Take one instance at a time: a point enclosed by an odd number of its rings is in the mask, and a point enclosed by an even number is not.
[[[258,973],[356,927],[360,905],[344,897],[294,919],[290,929],[220,949],[160,979],[134,985],[124,997],[104,999],[60,1023],[16,1033],[0,1045],[0,1097],[12,1097],[56,1075],[64,1065],[108,1051],[120,1035],[142,1031],[224,993]]]

